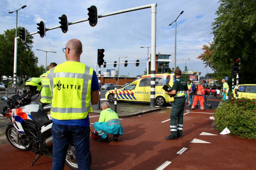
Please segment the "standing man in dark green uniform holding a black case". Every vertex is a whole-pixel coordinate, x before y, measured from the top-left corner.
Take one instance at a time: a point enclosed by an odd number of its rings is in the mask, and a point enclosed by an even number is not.
[[[176,80],[174,81],[174,85],[172,86],[171,92],[165,92],[169,95],[176,94],[173,98],[173,105],[172,105],[172,111],[170,115],[171,123],[170,123],[170,129],[171,129],[171,135],[168,137],[165,137],[168,140],[172,139],[178,139],[177,137],[182,137],[182,129],[183,129],[183,112],[185,104],[188,107],[189,102],[185,99],[185,93],[187,92],[187,97],[189,99],[189,91],[188,91],[188,85],[186,81],[181,78],[181,71],[180,69],[176,69],[174,71]],[[178,120],[178,121],[177,121]]]

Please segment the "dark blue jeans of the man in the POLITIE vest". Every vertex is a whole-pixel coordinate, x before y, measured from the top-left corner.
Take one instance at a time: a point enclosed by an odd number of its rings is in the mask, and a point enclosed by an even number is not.
[[[64,169],[68,145],[75,145],[79,170],[90,170],[90,127],[67,126],[52,123],[53,162],[52,170]]]

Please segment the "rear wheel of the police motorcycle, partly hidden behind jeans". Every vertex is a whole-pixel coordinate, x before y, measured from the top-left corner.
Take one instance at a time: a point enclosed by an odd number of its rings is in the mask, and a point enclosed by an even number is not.
[[[89,151],[89,162],[91,166],[91,163],[92,163],[91,151]],[[72,143],[69,144],[65,164],[72,170],[78,170],[78,166],[76,163],[76,151],[75,151],[74,144]]]

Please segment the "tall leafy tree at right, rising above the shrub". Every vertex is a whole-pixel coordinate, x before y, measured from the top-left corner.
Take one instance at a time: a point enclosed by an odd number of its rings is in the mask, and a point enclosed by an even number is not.
[[[210,66],[220,82],[231,77],[234,58],[241,58],[239,83],[256,84],[256,1],[220,0],[217,18],[212,23],[213,42],[203,46],[198,58]],[[231,85],[232,79],[228,79]]]

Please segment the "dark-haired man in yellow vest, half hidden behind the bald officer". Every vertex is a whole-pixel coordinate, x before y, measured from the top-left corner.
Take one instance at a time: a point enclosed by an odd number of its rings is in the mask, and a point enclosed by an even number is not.
[[[53,67],[57,66],[56,63],[51,63],[49,65],[49,70],[51,70]],[[47,72],[42,74],[40,77],[39,77],[42,81],[42,85],[43,85],[43,88],[42,88],[42,91],[41,91],[41,98],[40,98],[40,101],[42,103],[42,107],[44,107],[45,105],[48,105],[51,103],[51,100],[52,100],[52,93],[51,93],[51,90],[50,90],[50,85],[48,83],[48,76],[47,76]]]

